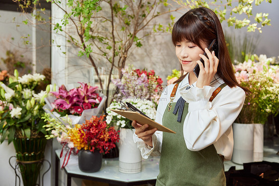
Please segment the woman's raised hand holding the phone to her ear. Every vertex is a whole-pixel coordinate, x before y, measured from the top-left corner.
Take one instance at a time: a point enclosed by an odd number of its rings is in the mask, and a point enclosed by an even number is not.
[[[200,66],[200,73],[199,73],[199,77],[198,77],[197,84],[196,84],[196,86],[198,88],[203,88],[204,86],[210,85],[212,78],[214,77],[215,73],[217,72],[217,67],[218,67],[218,63],[219,63],[219,60],[215,56],[214,51],[212,51],[212,53],[210,53],[210,51],[206,48],[205,52],[206,52],[208,58],[205,55],[200,54],[200,57],[205,62],[205,67],[201,61],[197,61],[197,63]]]

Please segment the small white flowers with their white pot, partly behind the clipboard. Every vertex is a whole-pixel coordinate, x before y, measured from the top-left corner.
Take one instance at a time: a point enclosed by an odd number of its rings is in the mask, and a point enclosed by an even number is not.
[[[156,105],[154,102],[137,97],[128,98],[125,102],[131,103],[150,119],[155,120]],[[138,173],[141,171],[141,154],[133,140],[135,129],[132,126],[132,121],[112,112],[111,109],[121,109],[120,103],[113,101],[106,109],[106,122],[120,127],[119,171],[123,173]]]

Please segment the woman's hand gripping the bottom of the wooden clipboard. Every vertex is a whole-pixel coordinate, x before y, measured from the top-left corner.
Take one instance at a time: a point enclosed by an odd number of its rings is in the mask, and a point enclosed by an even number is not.
[[[152,144],[152,135],[157,131],[157,128],[152,128],[148,130],[148,124],[137,124],[137,122],[134,120],[132,122],[132,126],[136,129],[135,133],[138,135],[140,139],[144,141],[148,146],[153,147]]]

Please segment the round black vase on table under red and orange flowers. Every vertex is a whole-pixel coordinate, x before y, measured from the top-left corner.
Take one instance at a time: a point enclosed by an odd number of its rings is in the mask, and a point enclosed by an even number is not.
[[[78,167],[80,171],[85,173],[98,172],[102,167],[102,153],[95,149],[94,152],[90,150],[80,150],[78,152]]]

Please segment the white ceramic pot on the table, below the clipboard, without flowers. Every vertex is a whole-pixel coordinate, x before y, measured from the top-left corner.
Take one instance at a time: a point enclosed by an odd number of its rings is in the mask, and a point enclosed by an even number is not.
[[[141,171],[141,154],[133,135],[135,129],[120,128],[119,171],[122,173],[139,173]]]

